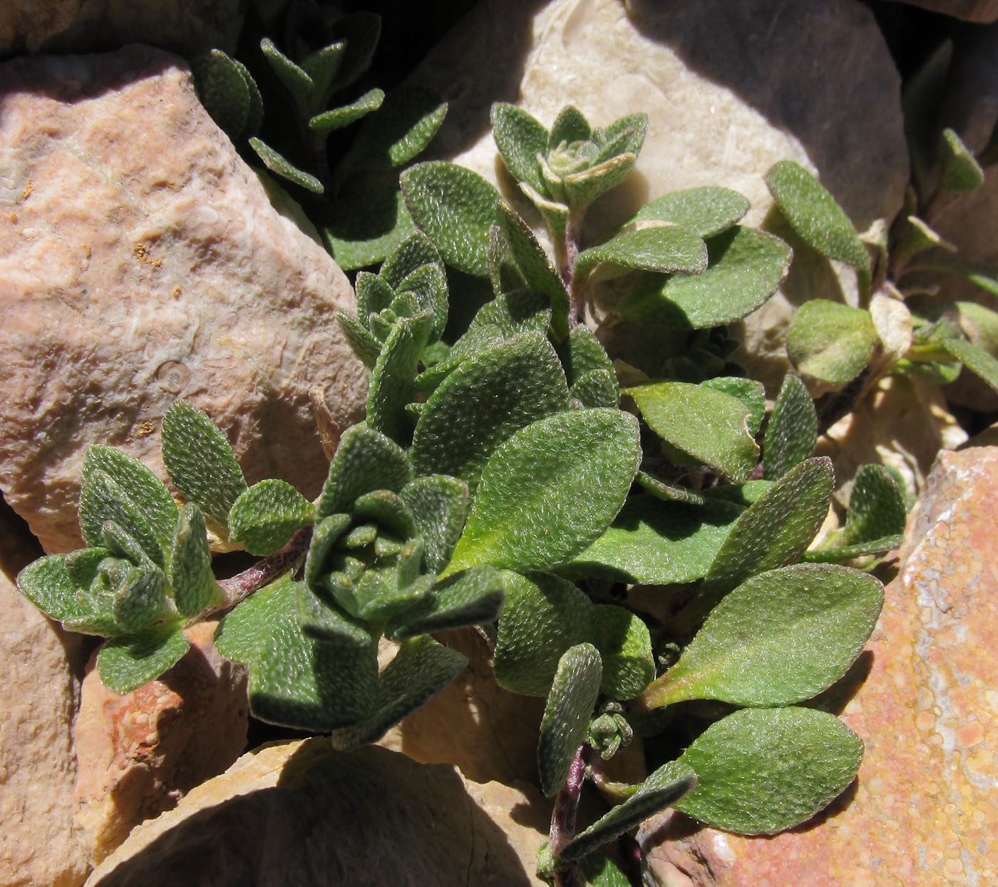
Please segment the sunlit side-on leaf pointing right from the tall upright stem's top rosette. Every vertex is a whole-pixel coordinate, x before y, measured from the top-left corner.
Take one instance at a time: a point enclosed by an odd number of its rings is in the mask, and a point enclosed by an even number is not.
[[[707,245],[685,228],[663,223],[583,249],[575,259],[575,277],[585,279],[600,264],[610,265],[612,274],[632,269],[699,274],[707,268]]]

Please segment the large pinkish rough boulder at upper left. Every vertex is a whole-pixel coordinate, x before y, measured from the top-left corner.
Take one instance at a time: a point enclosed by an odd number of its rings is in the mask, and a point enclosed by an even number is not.
[[[308,388],[341,424],[363,409],[334,319],[352,291],[270,208],[181,60],[132,46],[0,66],[0,170],[0,489],[45,549],[80,545],[90,444],[166,477],[177,397],[223,429],[250,483],[317,495]]]

